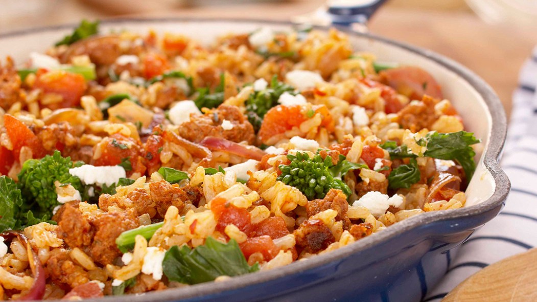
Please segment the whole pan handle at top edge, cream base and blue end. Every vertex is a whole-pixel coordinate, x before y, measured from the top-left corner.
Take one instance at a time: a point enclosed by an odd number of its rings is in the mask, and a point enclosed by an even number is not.
[[[294,23],[321,26],[350,27],[367,32],[367,21],[386,0],[328,0],[306,15],[292,18]]]

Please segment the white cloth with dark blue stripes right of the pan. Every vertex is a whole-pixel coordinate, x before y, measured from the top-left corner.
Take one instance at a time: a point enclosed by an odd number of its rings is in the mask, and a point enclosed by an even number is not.
[[[511,193],[498,217],[459,248],[440,284],[423,302],[438,302],[487,265],[537,246],[537,47],[520,71],[502,167]]]

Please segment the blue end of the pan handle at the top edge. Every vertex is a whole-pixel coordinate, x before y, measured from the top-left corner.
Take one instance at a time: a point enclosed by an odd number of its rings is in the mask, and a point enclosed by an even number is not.
[[[384,2],[386,0],[332,0],[328,1],[326,12],[334,25],[366,24]]]

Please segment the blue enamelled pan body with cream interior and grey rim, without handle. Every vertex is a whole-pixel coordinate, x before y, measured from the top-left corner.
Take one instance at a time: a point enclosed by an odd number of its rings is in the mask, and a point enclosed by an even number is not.
[[[144,33],[180,32],[212,41],[229,32],[250,32],[261,26],[289,30],[291,24],[257,20],[124,19],[105,21],[106,32],[126,29]],[[0,57],[22,61],[43,51],[71,25],[0,35]],[[319,27],[320,30],[328,28]],[[411,217],[350,246],[287,265],[231,278],[147,293],[107,297],[99,301],[419,301],[446,273],[453,248],[501,210],[510,183],[498,166],[506,134],[502,104],[481,78],[438,54],[371,34],[348,32],[355,49],[371,51],[379,60],[413,64],[428,70],[442,85],[465,120],[483,140],[477,170],[467,190],[467,205],[458,210]],[[450,252],[451,250],[451,252]]]

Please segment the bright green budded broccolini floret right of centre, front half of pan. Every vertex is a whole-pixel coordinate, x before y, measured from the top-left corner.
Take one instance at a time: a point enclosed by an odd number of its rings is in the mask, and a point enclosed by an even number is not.
[[[308,200],[324,198],[330,189],[342,190],[347,197],[351,195],[349,186],[332,174],[330,168],[337,165],[330,156],[323,160],[318,153],[310,158],[305,152],[297,152],[296,156],[288,154],[287,158],[291,163],[280,164],[281,175],[277,179],[299,189]]]

